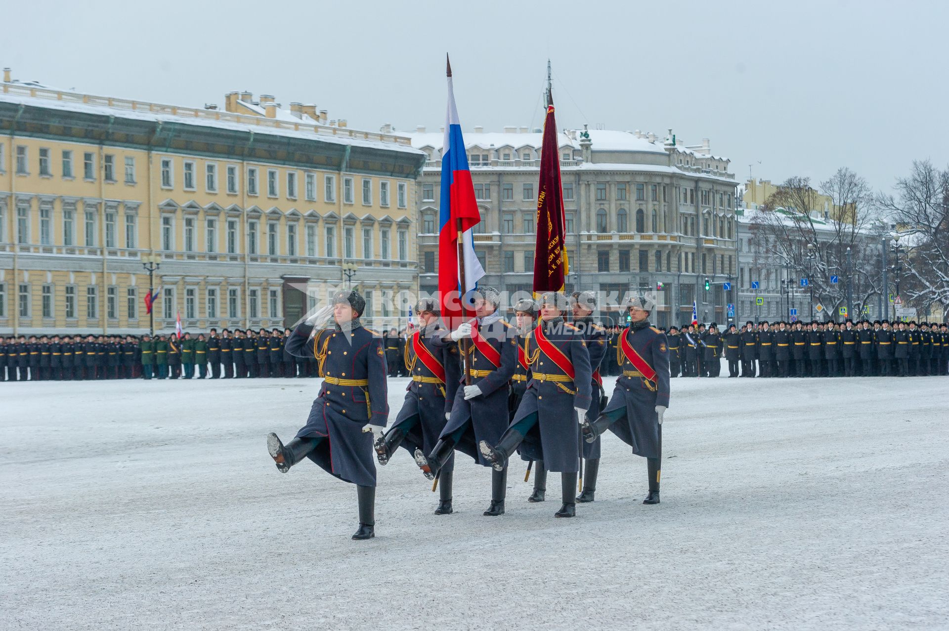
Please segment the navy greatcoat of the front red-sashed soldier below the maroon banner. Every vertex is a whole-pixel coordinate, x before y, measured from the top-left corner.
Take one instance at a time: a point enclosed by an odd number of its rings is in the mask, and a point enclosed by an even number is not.
[[[574,376],[570,380],[568,373],[541,349],[536,335],[532,335],[528,341],[530,382],[511,423],[515,425],[536,414],[537,423],[520,445],[521,455],[543,460],[547,471],[576,473],[580,471],[581,440],[577,413],[573,408],[588,409],[590,406],[593,371],[590,370],[589,353],[584,333],[576,326],[559,318],[542,325],[549,343],[573,365]]]

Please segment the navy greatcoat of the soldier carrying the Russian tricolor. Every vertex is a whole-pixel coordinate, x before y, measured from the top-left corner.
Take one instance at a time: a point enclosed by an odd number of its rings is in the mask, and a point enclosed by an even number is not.
[[[475,326],[474,321],[472,326]],[[472,385],[481,389],[481,395],[465,400],[462,375],[456,388],[452,416],[438,437],[450,436],[464,428],[464,433],[456,443],[456,450],[472,456],[478,464],[490,467],[492,463],[480,454],[477,444],[484,440],[489,445],[496,445],[504,430],[508,429],[508,421],[511,418],[508,412],[508,395],[511,376],[517,364],[517,330],[500,318],[488,325],[477,326],[481,338],[500,354],[499,365],[495,367],[474,343],[470,340],[467,342]],[[439,343],[451,343],[451,338],[444,335]],[[468,423],[471,425],[467,426]]]

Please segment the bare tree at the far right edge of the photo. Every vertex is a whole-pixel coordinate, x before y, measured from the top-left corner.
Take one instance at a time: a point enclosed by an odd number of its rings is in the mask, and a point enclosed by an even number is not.
[[[877,204],[897,225],[903,261],[905,302],[928,309],[949,307],[949,167],[914,161],[909,176],[897,180],[896,195],[878,195]]]

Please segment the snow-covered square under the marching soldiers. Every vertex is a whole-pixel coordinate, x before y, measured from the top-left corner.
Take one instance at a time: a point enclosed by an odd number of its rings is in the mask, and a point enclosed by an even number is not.
[[[482,516],[470,460],[436,516],[400,450],[368,542],[353,486],[267,455],[317,384],[0,383],[0,628],[949,626],[945,378],[673,380],[661,505],[607,435],[576,519],[520,462]]]

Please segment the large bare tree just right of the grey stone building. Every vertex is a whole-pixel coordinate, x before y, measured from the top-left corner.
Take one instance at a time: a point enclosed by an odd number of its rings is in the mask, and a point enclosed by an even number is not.
[[[870,187],[842,167],[820,183],[820,193],[829,197],[827,204],[808,177],[790,177],[778,186],[752,215],[757,263],[807,278],[814,300],[830,313],[847,306],[847,282],[854,306],[869,305],[882,290],[882,228]],[[831,276],[840,282],[831,283]]]

